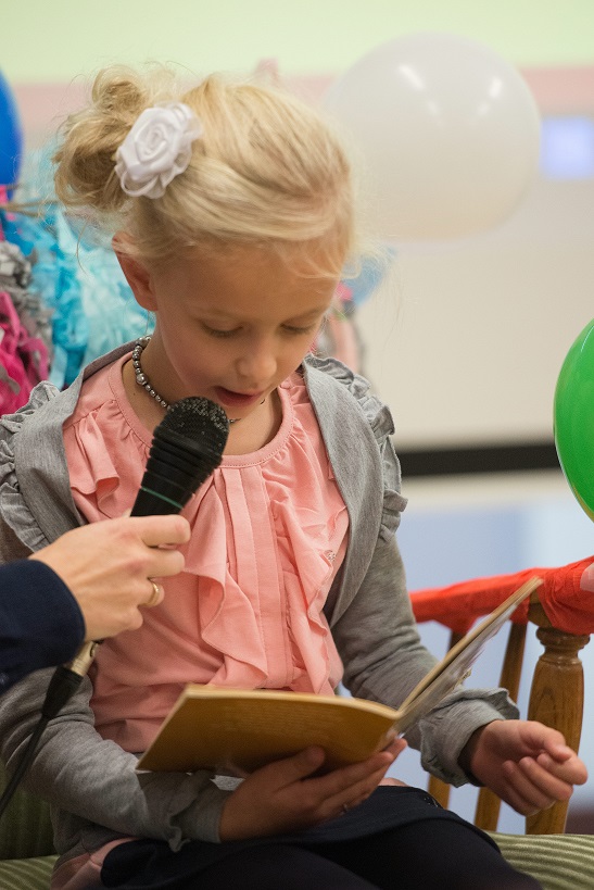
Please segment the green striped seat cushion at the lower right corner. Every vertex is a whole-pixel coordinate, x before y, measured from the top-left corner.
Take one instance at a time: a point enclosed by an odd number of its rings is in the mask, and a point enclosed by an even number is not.
[[[505,858],[544,890],[593,890],[594,835],[492,833]]]

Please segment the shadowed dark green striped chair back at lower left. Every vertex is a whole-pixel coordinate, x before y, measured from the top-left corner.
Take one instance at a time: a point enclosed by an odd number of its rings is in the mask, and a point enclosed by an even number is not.
[[[5,786],[0,764],[0,789]],[[0,820],[0,860],[47,856],[54,852],[48,804],[18,788]]]

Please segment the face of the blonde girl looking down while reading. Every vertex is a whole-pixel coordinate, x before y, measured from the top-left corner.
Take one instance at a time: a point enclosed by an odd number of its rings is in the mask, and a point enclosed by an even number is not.
[[[121,256],[138,302],[156,314],[143,369],[167,401],[202,396],[245,417],[301,363],[337,280],[241,248],[155,268]]]

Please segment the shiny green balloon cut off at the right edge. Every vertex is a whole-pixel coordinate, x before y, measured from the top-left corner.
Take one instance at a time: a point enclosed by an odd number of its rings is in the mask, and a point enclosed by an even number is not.
[[[554,403],[555,446],[580,506],[594,519],[594,321],[561,365]]]

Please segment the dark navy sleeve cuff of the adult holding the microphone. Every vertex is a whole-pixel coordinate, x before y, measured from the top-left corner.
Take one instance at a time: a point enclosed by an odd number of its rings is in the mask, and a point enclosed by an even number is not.
[[[85,619],[59,575],[39,560],[0,566],[0,694],[26,674],[68,662]]]

